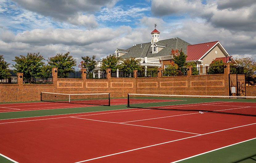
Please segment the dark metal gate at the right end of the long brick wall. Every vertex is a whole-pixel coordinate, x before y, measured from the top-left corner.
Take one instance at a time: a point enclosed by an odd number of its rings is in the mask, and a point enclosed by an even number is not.
[[[229,96],[232,95],[232,87],[235,88],[235,96],[246,96],[245,75],[229,74]]]

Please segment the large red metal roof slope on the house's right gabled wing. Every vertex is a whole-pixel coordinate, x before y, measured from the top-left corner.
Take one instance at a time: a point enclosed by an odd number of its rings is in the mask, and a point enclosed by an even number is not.
[[[191,60],[198,60],[200,59],[203,55],[205,55],[211,48],[213,48],[216,43],[219,41],[214,41],[210,43],[200,43],[196,45],[188,45],[187,47],[187,61]]]

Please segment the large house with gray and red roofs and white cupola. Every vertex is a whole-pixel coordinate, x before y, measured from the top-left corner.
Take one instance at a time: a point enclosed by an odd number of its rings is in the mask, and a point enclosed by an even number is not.
[[[182,49],[188,56],[186,63],[194,62],[196,67],[207,67],[216,59],[230,62],[230,58],[234,62],[233,57],[228,54],[219,41],[191,45],[178,37],[161,40],[160,32],[156,29],[151,32],[151,35],[149,43],[135,44],[128,49],[117,48],[115,50],[116,57],[123,59],[135,57],[140,60],[140,65],[145,69],[150,67],[164,69],[172,62],[171,50]]]

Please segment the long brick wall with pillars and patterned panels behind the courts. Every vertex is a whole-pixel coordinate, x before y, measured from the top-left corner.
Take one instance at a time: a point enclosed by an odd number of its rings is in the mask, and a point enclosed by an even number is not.
[[[23,73],[19,73],[18,84],[0,84],[0,102],[39,101],[41,92],[110,93],[110,97],[127,97],[128,93],[229,96],[229,64],[224,74],[217,75],[191,75],[188,68],[187,76],[113,78],[107,73],[107,79],[86,79],[85,70],[82,79],[57,78],[57,68],[53,68],[53,84],[23,84],[19,77]],[[253,86],[247,90],[246,96],[255,96]]]

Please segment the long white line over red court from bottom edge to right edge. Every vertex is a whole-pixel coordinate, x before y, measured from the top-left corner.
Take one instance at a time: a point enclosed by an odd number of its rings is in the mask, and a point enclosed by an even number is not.
[[[122,154],[122,153],[127,153],[127,152],[131,152],[131,151],[139,150],[139,149],[145,149],[145,148],[154,147],[154,146],[158,146],[158,145],[163,145],[163,144],[167,144],[167,143],[171,143],[171,142],[175,142],[175,141],[181,141],[181,140],[185,140],[185,139],[189,139],[189,138],[193,138],[193,137],[199,137],[199,136],[203,136],[203,135],[208,135],[208,134],[212,134],[212,133],[216,133],[216,132],[226,131],[226,130],[230,130],[230,129],[234,129],[234,128],[240,128],[240,127],[245,127],[245,126],[254,125],[254,124],[256,124],[256,123],[246,124],[246,125],[243,125],[243,126],[237,126],[237,127],[233,127],[233,128],[227,128],[227,129],[223,129],[223,130],[219,130],[219,131],[214,131],[214,132],[209,132],[209,133],[205,133],[205,134],[201,134],[201,135],[196,135],[196,136],[192,136],[192,137],[185,137],[185,138],[182,138],[182,139],[177,139],[177,140],[173,140],[173,141],[167,141],[167,142],[163,142],[163,143],[159,143],[159,144],[155,144],[155,145],[149,145],[149,146],[145,146],[145,147],[141,147],[141,148],[136,148],[136,149],[131,149],[131,150],[127,150],[127,151],[123,151],[123,152],[119,152],[119,153],[113,153],[113,154],[109,154],[109,155],[105,155],[105,156],[101,156],[101,157],[96,157],[96,158],[92,158],[92,159],[88,159],[88,160],[84,160],[84,161],[79,161],[79,162],[75,162],[75,163],[81,163],[81,162],[86,162],[86,161],[91,161],[91,160],[97,160],[99,158],[114,156],[114,155],[118,155],[118,154]]]

